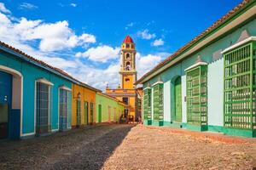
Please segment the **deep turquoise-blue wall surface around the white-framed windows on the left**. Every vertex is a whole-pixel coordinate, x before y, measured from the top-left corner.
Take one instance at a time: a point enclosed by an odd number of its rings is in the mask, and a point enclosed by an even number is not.
[[[0,65],[7,66],[15,71],[19,71],[23,76],[23,114],[22,114],[22,134],[32,134],[35,131],[35,82],[39,78],[45,78],[52,82],[52,112],[51,126],[52,130],[58,129],[59,109],[58,109],[58,94],[59,87],[66,86],[72,88],[72,83],[65,78],[59,77],[50,71],[39,68],[36,65],[19,59],[13,54],[8,54],[0,51]],[[70,99],[69,99],[70,100]],[[71,102],[69,103],[71,108]],[[71,117],[71,115],[69,115]],[[70,118],[68,117],[68,125],[70,127]]]

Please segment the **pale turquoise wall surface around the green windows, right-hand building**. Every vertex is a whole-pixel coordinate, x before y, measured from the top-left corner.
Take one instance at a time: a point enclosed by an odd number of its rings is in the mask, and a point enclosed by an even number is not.
[[[182,122],[187,122],[187,107],[184,100],[186,96],[186,75],[185,69],[189,66],[194,65],[198,55],[201,55],[201,59],[204,62],[208,63],[207,71],[207,90],[208,90],[208,125],[210,126],[223,126],[223,95],[224,95],[224,59],[223,56],[220,56],[218,60],[213,60],[212,55],[220,50],[230,47],[230,42],[232,44],[236,43],[238,38],[241,36],[241,32],[247,30],[251,36],[256,36],[256,20],[251,20],[246,25],[237,28],[235,31],[230,32],[221,39],[218,39],[216,42],[208,45],[205,48],[197,51],[195,54],[187,56],[186,59],[183,59],[181,62],[176,65],[172,65],[157,75],[156,77],[151,78],[147,82],[143,83],[143,87],[148,86],[148,82],[152,85],[155,82],[158,82],[159,77],[164,82],[164,121],[171,122],[171,114],[173,111],[172,108],[172,80],[177,76],[182,78],[182,112],[183,118]],[[154,96],[152,95],[152,99]],[[153,107],[153,106],[152,106]],[[152,109],[152,112],[154,110]],[[153,115],[153,113],[152,113]]]

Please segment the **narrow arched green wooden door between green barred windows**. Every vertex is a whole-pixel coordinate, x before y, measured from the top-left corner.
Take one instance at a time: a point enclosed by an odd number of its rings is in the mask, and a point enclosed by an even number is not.
[[[181,77],[177,77],[174,84],[175,90],[175,120],[182,121],[182,94],[181,94]]]

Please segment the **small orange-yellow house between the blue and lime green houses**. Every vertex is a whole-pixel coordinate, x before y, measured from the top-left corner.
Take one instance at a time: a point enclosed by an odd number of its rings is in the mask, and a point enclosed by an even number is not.
[[[84,83],[72,84],[72,127],[96,122],[96,88]]]

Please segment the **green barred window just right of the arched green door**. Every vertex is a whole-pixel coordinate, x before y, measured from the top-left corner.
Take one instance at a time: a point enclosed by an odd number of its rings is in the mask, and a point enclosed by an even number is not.
[[[187,74],[187,122],[207,125],[207,65],[198,65]]]

